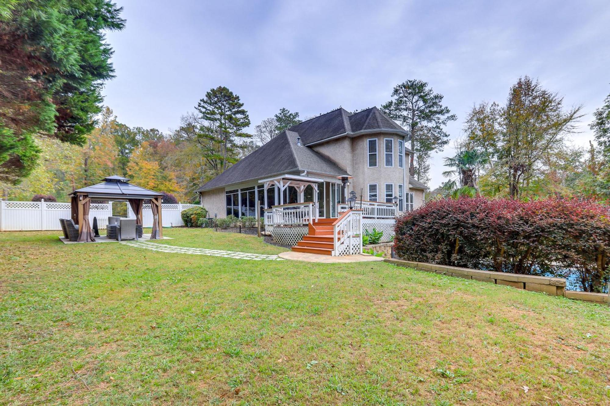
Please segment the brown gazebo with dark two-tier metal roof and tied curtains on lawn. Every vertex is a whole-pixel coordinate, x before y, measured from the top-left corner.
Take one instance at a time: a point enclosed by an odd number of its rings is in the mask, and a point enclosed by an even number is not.
[[[78,241],[95,242],[89,222],[91,199],[104,201],[129,202],[135,213],[135,224],[142,226],[142,206],[145,200],[151,202],[152,232],[151,240],[163,238],[161,221],[161,200],[163,194],[129,183],[126,177],[113,175],[105,177],[101,183],[74,190],[71,196],[71,216],[74,224],[79,225]]]

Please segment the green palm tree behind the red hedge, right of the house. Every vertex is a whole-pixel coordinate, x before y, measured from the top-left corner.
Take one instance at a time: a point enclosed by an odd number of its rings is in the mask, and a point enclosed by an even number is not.
[[[457,177],[459,180],[451,179],[445,182],[443,186],[445,190],[450,192],[452,195],[456,194],[460,196],[466,194],[468,196],[480,194],[479,186],[476,183],[478,171],[484,165],[489,163],[489,155],[484,151],[478,149],[458,151],[458,153],[451,158],[445,158],[445,166],[452,166],[453,170],[443,172],[445,177]]]

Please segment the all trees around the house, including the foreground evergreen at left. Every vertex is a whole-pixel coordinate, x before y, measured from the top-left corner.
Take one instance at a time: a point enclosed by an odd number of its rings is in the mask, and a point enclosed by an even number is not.
[[[8,1],[0,5],[0,191],[3,198],[55,193],[109,173],[181,199],[282,130],[301,122],[282,108],[254,126],[239,96],[212,88],[182,116],[178,129],[129,127],[102,105],[112,79],[104,32],[121,30],[122,9],[109,0]],[[450,142],[457,119],[423,80],[393,88],[381,106],[411,135],[409,173],[429,181],[429,158]],[[520,78],[506,102],[467,113],[448,181],[434,194],[533,199],[551,194],[610,196],[610,95],[596,110],[590,146],[567,137],[583,118],[558,93]],[[307,118],[306,118],[307,119]]]

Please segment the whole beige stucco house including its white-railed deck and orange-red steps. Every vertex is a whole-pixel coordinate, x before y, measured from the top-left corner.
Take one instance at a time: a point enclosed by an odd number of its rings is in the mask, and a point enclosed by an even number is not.
[[[409,177],[409,140],[377,107],[332,110],[206,182],[201,204],[217,218],[260,213],[265,232],[293,251],[357,254],[363,233],[376,229],[389,241],[396,216],[423,204],[428,188]]]

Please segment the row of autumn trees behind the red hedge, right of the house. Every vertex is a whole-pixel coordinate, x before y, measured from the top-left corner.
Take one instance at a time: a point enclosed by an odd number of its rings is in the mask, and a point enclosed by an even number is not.
[[[589,148],[567,143],[583,106],[566,108],[558,93],[525,76],[504,104],[481,102],[464,121],[457,153],[445,158],[449,178],[437,194],[512,199],[545,196],[610,198],[610,94],[595,110]]]

